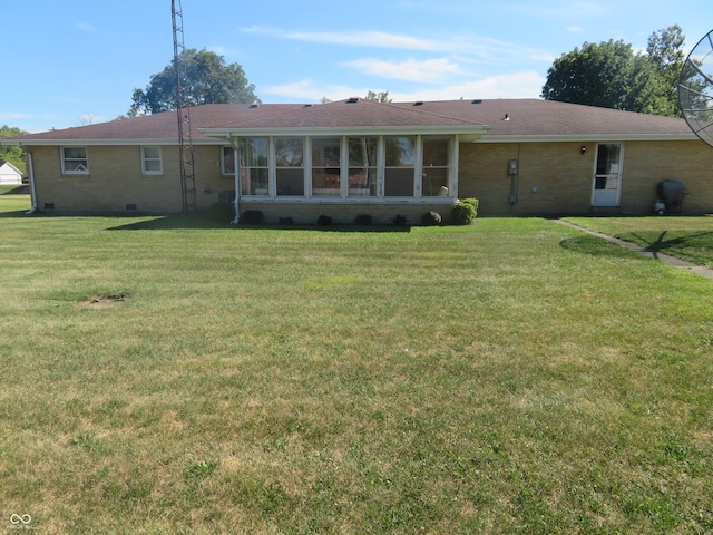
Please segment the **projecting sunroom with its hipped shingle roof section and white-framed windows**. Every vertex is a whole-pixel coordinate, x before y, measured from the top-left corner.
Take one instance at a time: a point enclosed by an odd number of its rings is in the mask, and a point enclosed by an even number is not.
[[[336,208],[452,203],[459,145],[488,129],[354,99],[199,132],[227,142],[221,165],[235,176],[236,204]]]

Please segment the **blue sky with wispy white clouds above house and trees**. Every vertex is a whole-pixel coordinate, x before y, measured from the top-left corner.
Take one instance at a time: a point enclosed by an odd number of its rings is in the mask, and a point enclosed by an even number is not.
[[[28,132],[113,120],[173,56],[170,0],[4,0],[0,125]],[[389,91],[398,101],[537,98],[584,42],[677,23],[686,50],[710,0],[183,0],[186,48],[240,64],[263,103]]]

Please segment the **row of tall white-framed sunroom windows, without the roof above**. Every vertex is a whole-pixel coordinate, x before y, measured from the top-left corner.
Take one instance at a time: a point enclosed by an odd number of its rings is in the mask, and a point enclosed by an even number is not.
[[[233,137],[222,167],[235,173],[244,201],[455,198],[458,137]]]

